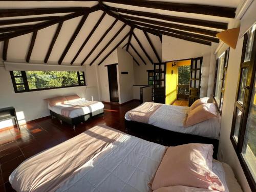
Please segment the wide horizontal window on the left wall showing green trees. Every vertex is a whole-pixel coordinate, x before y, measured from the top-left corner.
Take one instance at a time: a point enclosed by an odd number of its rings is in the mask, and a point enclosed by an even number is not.
[[[10,71],[15,93],[86,86],[84,72]]]

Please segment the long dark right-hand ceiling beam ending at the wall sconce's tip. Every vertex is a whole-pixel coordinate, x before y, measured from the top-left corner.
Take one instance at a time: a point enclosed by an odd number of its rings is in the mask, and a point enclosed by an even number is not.
[[[202,39],[202,40],[206,40],[206,41],[217,42],[217,43],[220,42],[220,40],[218,38],[209,37],[209,36],[205,36],[205,35],[188,33],[185,31],[179,31],[179,30],[175,30],[175,29],[171,29],[171,28],[160,27],[160,26],[150,25],[150,24],[146,24],[146,23],[140,23],[140,22],[133,22],[133,23],[136,25],[147,27],[147,28],[158,29],[161,31],[168,31],[170,33],[175,33],[175,34],[184,35],[184,36],[188,36],[188,37],[198,38],[198,39]]]

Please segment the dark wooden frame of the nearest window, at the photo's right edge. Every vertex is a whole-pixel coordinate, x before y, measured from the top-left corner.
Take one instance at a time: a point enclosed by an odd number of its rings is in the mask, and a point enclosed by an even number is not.
[[[247,124],[247,119],[248,119],[248,114],[249,114],[249,109],[250,109],[250,101],[252,99],[252,91],[253,91],[254,80],[255,80],[254,77],[255,77],[255,71],[256,71],[256,34],[254,34],[254,38],[253,38],[251,58],[249,61],[244,62],[246,48],[247,48],[247,40],[248,40],[248,32],[244,35],[242,57],[241,57],[241,64],[240,64],[240,70],[239,70],[236,101],[234,103],[230,140],[234,147],[234,150],[236,151],[236,154],[237,154],[240,164],[243,168],[243,171],[244,171],[246,179],[249,183],[249,186],[252,191],[255,191],[256,183],[255,183],[253,176],[250,173],[249,167],[246,164],[246,161],[244,160],[243,155],[242,155],[243,143],[244,143],[245,133],[246,133],[246,124]],[[241,78],[242,71],[245,68],[248,69],[248,74],[247,74],[247,80],[246,80],[246,86],[245,86],[244,100],[243,100],[243,103],[241,103],[241,102],[239,102],[240,84],[241,84],[241,80],[242,80],[242,78]],[[238,141],[236,141],[236,139],[234,138],[237,110],[240,110],[242,112],[240,126],[239,126]]]

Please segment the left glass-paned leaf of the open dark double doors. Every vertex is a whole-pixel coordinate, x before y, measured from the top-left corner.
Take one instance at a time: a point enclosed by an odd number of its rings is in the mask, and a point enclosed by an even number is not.
[[[166,63],[154,64],[153,99],[156,103],[165,103]]]

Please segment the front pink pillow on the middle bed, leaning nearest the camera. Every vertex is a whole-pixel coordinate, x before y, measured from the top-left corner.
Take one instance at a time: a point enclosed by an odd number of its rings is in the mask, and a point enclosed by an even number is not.
[[[218,117],[216,105],[214,103],[201,104],[194,110],[190,110],[188,112],[184,127],[188,127],[214,117]]]

